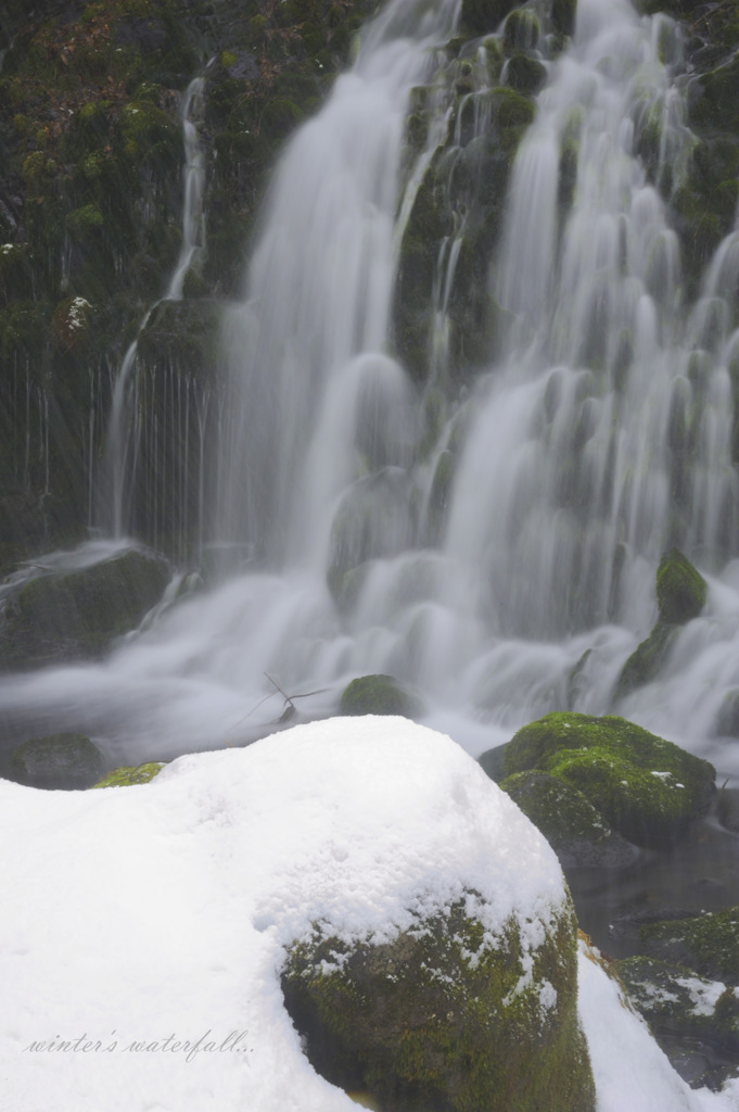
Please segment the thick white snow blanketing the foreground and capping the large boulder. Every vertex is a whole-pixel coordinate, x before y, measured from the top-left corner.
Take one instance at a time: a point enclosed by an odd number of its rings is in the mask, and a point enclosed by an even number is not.
[[[350,1112],[283,1007],[284,947],[316,922],[388,939],[471,888],[490,934],[512,914],[533,947],[565,893],[509,797],[400,718],[296,727],[136,787],[0,781],[0,814],[2,1112]],[[583,965],[599,1112],[739,1108],[667,1060],[639,1086],[660,1052]]]

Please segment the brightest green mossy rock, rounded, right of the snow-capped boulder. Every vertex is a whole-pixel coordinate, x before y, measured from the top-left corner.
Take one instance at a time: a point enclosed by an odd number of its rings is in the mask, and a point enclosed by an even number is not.
[[[508,775],[539,768],[578,788],[636,845],[670,843],[703,815],[716,770],[625,718],[553,713],[523,726],[503,754]]]

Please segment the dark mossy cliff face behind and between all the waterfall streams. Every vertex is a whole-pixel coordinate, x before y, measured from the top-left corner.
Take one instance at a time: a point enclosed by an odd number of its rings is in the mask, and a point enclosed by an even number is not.
[[[142,345],[154,410],[171,385],[164,370],[174,364],[194,379],[210,377],[213,301],[238,291],[277,151],[320,105],[371,7],[369,0],[4,4],[0,569],[29,552],[72,542],[100,519],[92,476],[100,468],[112,384],[181,247],[183,90],[197,73],[206,76],[200,132],[208,166],[207,250],[184,276],[189,309],[154,315]],[[475,373],[495,335],[498,310],[486,292],[487,259],[500,235],[517,142],[543,79],[532,46],[541,34],[555,57],[573,23],[569,3],[528,6],[512,13],[518,18],[510,18],[512,8],[501,0],[468,0],[448,49],[446,95],[457,130],[440,137],[418,189],[396,296],[393,344],[417,380],[428,378],[436,358],[429,349],[435,267],[457,211],[467,215],[447,305],[445,358],[452,380]],[[686,123],[695,140],[689,165],[679,179],[666,170],[657,119],[642,121],[639,142],[672,212],[686,287],[695,296],[700,271],[732,226],[738,198],[739,6],[706,10],[675,2],[670,14],[685,28],[685,57],[673,64],[688,86]],[[506,17],[502,37],[486,38]],[[475,89],[470,40],[486,44],[491,85],[490,127],[471,140],[465,115]],[[410,148],[428,141],[425,97],[419,90],[410,106]],[[453,159],[446,157],[452,147]],[[560,162],[562,212],[572,185],[569,155],[563,150]],[[186,431],[178,435],[188,439]],[[181,456],[174,441],[171,453]],[[134,524],[152,539],[147,513]],[[187,528],[179,523],[176,530]],[[156,539],[187,557],[187,545],[164,535]]]

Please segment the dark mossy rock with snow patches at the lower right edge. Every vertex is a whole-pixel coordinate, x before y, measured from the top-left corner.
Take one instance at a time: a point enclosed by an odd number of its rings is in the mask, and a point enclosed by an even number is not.
[[[628,997],[656,1035],[697,1039],[739,1051],[739,999],[721,981],[653,957],[627,957],[616,970]]]

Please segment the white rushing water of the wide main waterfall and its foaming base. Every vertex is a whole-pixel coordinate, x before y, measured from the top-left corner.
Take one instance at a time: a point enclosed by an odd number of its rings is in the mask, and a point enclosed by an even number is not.
[[[662,678],[616,709],[739,776],[736,743],[717,735],[739,689],[739,240],[721,246],[690,310],[637,153],[657,113],[658,172],[690,155],[660,60],[666,43],[678,49],[675,28],[627,0],[580,0],[571,47],[547,62],[491,260],[505,334],[423,455],[429,399],[389,334],[402,222],[449,101],[439,96],[413,165],[403,128],[455,19],[447,0],[396,0],[278,167],[226,325],[233,419],[218,446],[213,547],[233,555],[230,577],[102,665],[3,682],[11,718],[33,707],[130,762],[271,728],[282,703],[262,702],[267,674],[291,696],[318,689],[298,703],[318,716],[353,676],[385,672],[478,753],[551,709],[613,709],[622,664],[656,619],[660,554],[679,544],[708,578],[705,614]],[[568,145],[576,186],[560,227]],[[452,238],[440,259],[438,375],[458,251]],[[456,463],[440,519],[442,457]]]

